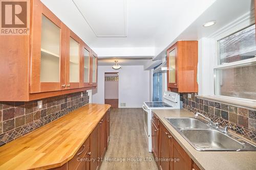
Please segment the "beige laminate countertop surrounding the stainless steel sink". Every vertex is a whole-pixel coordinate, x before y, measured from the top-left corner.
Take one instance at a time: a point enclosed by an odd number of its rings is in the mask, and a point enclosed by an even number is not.
[[[162,109],[153,112],[201,170],[256,169],[256,152],[197,151],[164,119],[164,117],[193,117],[193,113],[183,109]]]

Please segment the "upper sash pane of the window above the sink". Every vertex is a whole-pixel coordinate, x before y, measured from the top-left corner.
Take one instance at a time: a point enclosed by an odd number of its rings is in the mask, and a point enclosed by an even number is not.
[[[255,25],[219,40],[220,64],[253,58],[256,55]]]

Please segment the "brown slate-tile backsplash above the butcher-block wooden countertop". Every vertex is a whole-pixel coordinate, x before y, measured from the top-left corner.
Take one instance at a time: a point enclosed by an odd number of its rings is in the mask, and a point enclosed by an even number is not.
[[[0,102],[0,146],[89,103],[87,91],[30,102]]]

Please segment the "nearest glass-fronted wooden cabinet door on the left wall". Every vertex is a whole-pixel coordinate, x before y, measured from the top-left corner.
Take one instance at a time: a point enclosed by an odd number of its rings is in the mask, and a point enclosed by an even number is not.
[[[33,3],[30,92],[61,90],[67,27],[39,0]]]

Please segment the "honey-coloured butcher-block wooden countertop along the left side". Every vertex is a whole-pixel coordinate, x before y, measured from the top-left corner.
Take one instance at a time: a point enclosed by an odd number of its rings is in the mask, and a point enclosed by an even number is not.
[[[46,169],[72,159],[110,105],[87,104],[0,147],[0,169]]]

